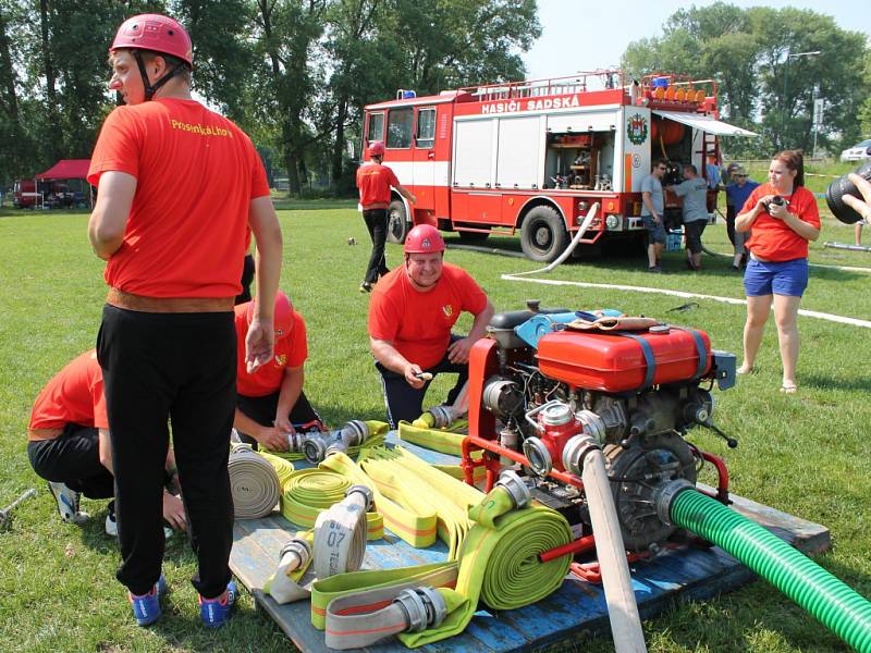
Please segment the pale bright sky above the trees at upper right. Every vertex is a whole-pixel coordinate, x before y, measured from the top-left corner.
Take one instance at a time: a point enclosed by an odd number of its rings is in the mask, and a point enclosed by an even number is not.
[[[844,29],[871,38],[871,12],[859,0],[726,0],[737,7],[810,9],[827,14]],[[631,41],[662,36],[662,25],[682,8],[707,7],[713,0],[538,0],[541,37],[524,54],[528,79],[567,76],[578,71],[619,67]]]

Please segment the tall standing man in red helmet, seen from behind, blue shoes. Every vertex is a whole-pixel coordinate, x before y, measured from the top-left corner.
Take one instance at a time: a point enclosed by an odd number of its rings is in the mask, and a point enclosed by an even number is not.
[[[88,223],[110,286],[97,356],[106,383],[122,564],[140,626],[161,614],[161,468],[168,422],[199,571],[200,616],[221,626],[230,581],[233,501],[233,300],[248,229],[257,244],[257,301],[246,336],[254,370],[272,358],[282,239],[266,173],[248,136],[191,96],[192,44],[172,19],[125,21],[110,48],[109,88],[126,106],[106,119],[88,181]]]

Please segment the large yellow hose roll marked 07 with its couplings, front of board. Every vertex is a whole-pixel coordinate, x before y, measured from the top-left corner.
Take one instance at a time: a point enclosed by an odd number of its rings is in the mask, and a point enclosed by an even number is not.
[[[393,633],[416,648],[465,630],[479,599],[493,609],[514,609],[548,596],[562,584],[571,556],[548,563],[538,556],[569,542],[572,532],[560,514],[525,507],[528,501],[526,485],[508,472],[469,508],[475,526],[463,545],[455,590],[431,579],[417,578],[409,584],[416,568],[343,575],[315,583],[312,625],[321,627],[319,609],[329,600],[324,619],[329,648],[365,646]],[[422,568],[417,569],[422,576]],[[428,571],[447,574],[450,568],[433,566]],[[360,592],[360,588],[366,589]]]

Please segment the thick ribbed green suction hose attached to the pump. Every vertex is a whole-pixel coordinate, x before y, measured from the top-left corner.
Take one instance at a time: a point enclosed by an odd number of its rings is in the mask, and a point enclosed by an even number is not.
[[[692,486],[676,482],[658,501],[660,516],[735,556],[860,653],[871,653],[871,603],[813,560]]]

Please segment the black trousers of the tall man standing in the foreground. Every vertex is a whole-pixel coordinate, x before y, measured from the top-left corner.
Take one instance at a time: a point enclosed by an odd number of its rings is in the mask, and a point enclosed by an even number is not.
[[[233,498],[226,463],[233,427],[236,332],[233,313],[146,313],[106,306],[97,337],[103,372],[115,510],[118,579],[148,592],[163,558],[163,467],[169,426],[191,546],[193,583],[207,599],[230,581]]]

